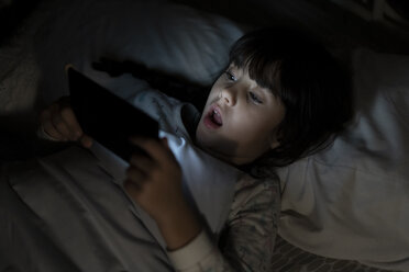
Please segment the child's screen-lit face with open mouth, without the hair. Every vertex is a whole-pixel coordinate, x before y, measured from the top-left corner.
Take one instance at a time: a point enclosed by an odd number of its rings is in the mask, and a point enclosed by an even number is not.
[[[284,115],[278,98],[252,80],[247,69],[231,65],[210,91],[196,140],[222,160],[245,165],[278,146],[275,128]]]

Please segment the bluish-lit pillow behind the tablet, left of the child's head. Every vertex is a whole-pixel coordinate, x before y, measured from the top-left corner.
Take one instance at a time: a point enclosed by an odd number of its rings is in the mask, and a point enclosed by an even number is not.
[[[101,56],[211,84],[242,35],[233,22],[168,1],[55,1],[40,27],[35,54],[43,72],[41,92],[51,102],[68,93],[64,66],[87,73]]]

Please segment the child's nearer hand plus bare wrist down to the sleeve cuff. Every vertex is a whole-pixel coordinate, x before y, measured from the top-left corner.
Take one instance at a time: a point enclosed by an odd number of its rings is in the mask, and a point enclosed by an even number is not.
[[[147,212],[169,250],[194,239],[201,225],[181,191],[181,170],[166,139],[132,138],[147,156],[134,154],[124,183],[130,196]]]

